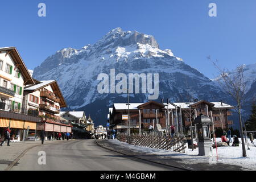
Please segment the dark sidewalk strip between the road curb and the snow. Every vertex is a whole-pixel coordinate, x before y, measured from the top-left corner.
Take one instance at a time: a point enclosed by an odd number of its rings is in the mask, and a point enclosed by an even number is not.
[[[153,152],[150,152],[149,149],[147,151],[138,151],[134,149],[134,147],[136,146],[128,147],[124,144],[123,145],[118,144],[119,142],[116,142],[111,139],[97,140],[97,143],[101,147],[108,148],[113,151],[117,151],[121,154],[135,156],[136,158],[139,158],[139,159],[149,160],[151,162],[165,164],[172,167],[189,169],[192,171],[241,171],[243,170],[240,166],[235,166],[235,165],[222,164],[222,163],[209,164],[209,158],[205,156],[197,157],[197,159],[199,159],[201,162],[193,164],[188,162],[189,160],[193,159],[193,156],[190,156],[190,159],[174,158],[174,156],[183,155],[181,153],[176,153],[176,154],[173,154],[172,156],[157,155],[157,154],[153,154]]]

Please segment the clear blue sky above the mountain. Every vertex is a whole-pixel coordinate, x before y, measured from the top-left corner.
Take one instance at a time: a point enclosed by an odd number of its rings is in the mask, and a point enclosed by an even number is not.
[[[47,16],[38,16],[46,3]],[[217,17],[208,5],[217,4]],[[255,0],[24,0],[1,1],[0,47],[15,46],[34,69],[56,51],[93,44],[116,27],[155,36],[161,49],[206,76],[217,75],[206,57],[222,67],[256,63]]]

